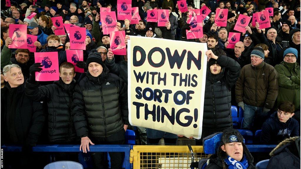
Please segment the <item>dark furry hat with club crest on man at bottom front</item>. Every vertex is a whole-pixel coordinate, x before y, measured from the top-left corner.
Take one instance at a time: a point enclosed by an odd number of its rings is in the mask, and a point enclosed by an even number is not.
[[[232,143],[232,142],[244,142],[244,137],[234,128],[227,128],[223,131],[222,142]]]

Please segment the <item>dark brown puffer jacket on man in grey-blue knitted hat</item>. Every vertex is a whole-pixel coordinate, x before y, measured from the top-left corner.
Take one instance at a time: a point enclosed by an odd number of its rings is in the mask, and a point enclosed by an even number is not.
[[[272,109],[278,95],[277,78],[274,67],[263,61],[258,66],[244,66],[236,81],[236,102]]]

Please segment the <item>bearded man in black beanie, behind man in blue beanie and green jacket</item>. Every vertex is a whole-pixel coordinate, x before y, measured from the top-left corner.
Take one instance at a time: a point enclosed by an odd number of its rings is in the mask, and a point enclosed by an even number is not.
[[[282,48],[285,48],[288,46],[288,43],[290,41],[290,21],[284,21],[281,26],[281,30],[278,32],[276,41],[282,44]]]

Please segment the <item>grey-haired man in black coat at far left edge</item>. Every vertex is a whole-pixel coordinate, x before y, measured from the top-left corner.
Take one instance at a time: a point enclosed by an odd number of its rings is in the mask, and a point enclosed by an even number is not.
[[[17,64],[3,68],[1,89],[1,143],[22,146],[22,152],[5,152],[4,168],[24,168],[33,161],[36,146],[45,121],[43,103],[31,101],[24,92],[24,76]],[[40,168],[40,167],[38,167]]]

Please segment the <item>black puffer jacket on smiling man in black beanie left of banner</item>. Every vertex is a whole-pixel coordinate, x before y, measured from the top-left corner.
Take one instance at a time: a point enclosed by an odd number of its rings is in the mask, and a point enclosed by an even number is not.
[[[98,77],[87,72],[75,87],[73,120],[79,137],[108,137],[129,124],[127,86],[104,66]]]

